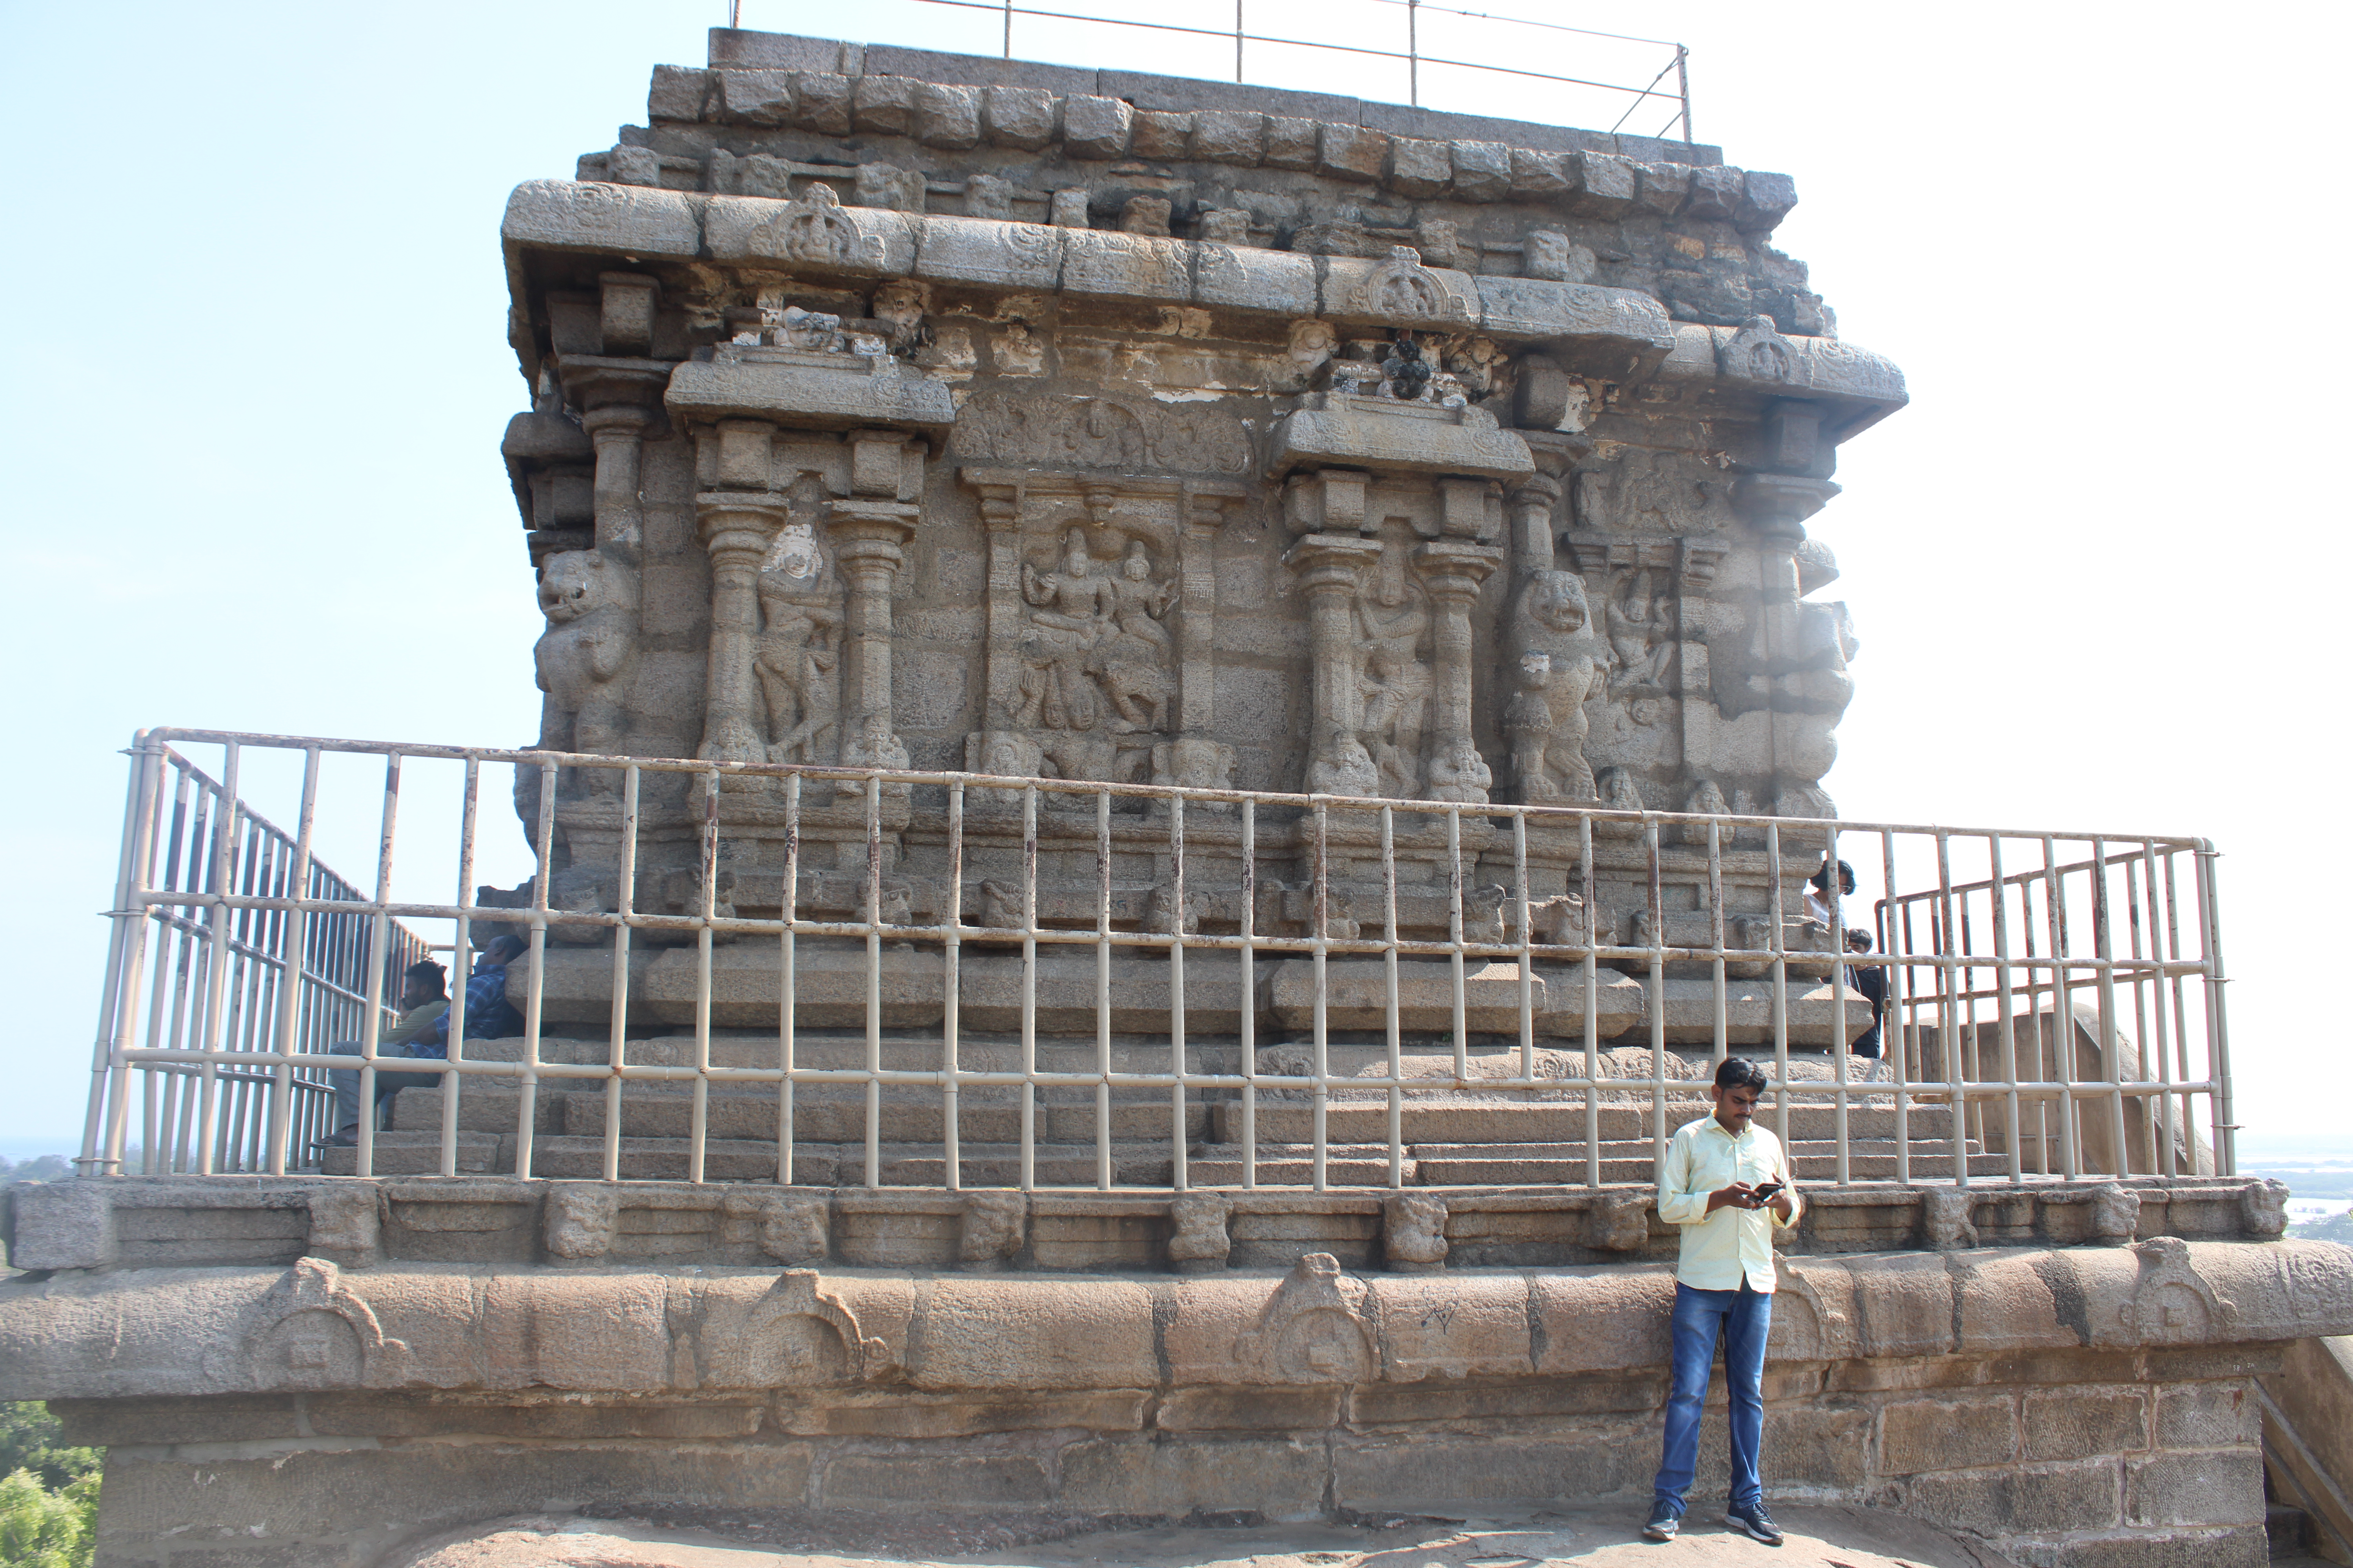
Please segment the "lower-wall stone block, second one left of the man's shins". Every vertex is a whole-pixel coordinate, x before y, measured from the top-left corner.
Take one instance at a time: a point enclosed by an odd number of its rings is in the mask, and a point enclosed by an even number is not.
[[[1315,1519],[1329,1460],[1318,1441],[1085,1441],[1061,1450],[1061,1507],[1104,1514]]]

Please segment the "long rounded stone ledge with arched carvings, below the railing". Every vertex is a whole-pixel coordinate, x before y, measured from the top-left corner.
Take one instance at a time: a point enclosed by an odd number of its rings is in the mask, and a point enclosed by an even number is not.
[[[934,1201],[936,1208],[936,1201]],[[967,1215],[969,1229],[969,1215]],[[1666,1359],[1668,1265],[1224,1276],[407,1265],[122,1269],[0,1286],[24,1399],[360,1389],[1122,1389],[1588,1375]],[[2179,1356],[2353,1331],[2327,1244],[1894,1253],[1786,1265],[1784,1363]],[[2254,1368],[2261,1371],[2261,1368]],[[2191,1373],[2198,1375],[2198,1373]]]

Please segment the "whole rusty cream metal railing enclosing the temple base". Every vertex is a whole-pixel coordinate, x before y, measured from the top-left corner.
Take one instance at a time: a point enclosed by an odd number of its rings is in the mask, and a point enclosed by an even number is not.
[[[176,858],[169,846],[205,837],[181,825],[191,792],[224,799],[224,788],[195,773],[179,745],[224,748],[228,790],[240,757],[256,748],[301,757],[304,806],[292,839],[249,811],[231,816],[212,804],[216,842],[231,837],[221,823],[256,823],[278,856],[273,865],[289,867],[285,875],[238,875],[221,851],[200,872]],[[322,882],[311,853],[329,755],[381,759],[374,811],[355,813],[379,825],[372,896]],[[452,903],[388,893],[402,764],[421,759],[461,764]],[[473,893],[485,766],[515,769],[518,813],[539,867],[520,907]],[[609,856],[600,863],[605,896],[581,898],[572,879],[558,896],[551,867],[560,867],[560,818],[574,867],[588,865],[584,846]],[[2047,849],[2042,870],[2005,875],[2005,844],[2021,839]],[[2078,842],[2087,856],[2059,853]],[[1826,853],[1849,856],[1866,877],[1875,870],[1894,891],[1880,903],[1875,952],[1845,954],[1838,900],[1826,919],[1805,917],[1805,877]],[[1974,860],[1993,867],[1986,886],[1967,879]],[[252,853],[245,865],[254,865]],[[1304,882],[1268,875],[1287,867]],[[767,882],[755,886],[758,877]],[[2115,877],[2144,889],[2127,931],[2113,922]],[[656,884],[673,893],[640,898]],[[675,893],[680,884],[689,891]],[[308,891],[294,896],[296,886]],[[2007,889],[2005,898],[2042,898],[2061,936],[2040,952],[2012,952],[2002,933],[2014,922],[1995,912],[2007,905],[1984,903],[1979,917],[1969,903],[1995,886]],[[1612,898],[1621,900],[1617,912],[1605,907]],[[1628,898],[1633,907],[1624,907]],[[929,917],[918,919],[918,907]],[[1979,919],[1995,922],[1991,952],[1974,938]],[[442,1175],[459,1173],[464,1095],[489,1086],[513,1095],[513,1133],[499,1138],[496,1168],[544,1175],[536,1145],[546,1086],[602,1091],[600,1105],[579,1110],[595,1112],[586,1143],[605,1180],[621,1180],[633,1159],[626,1114],[647,1124],[666,1117],[664,1138],[682,1119],[687,1180],[713,1178],[711,1119],[715,1098],[725,1098],[739,1143],[746,1105],[765,1107],[753,1117],[758,1143],[774,1147],[760,1154],[772,1164],[758,1178],[776,1182],[805,1175],[795,1161],[826,1150],[847,1185],[911,1182],[904,1150],[885,1150],[885,1107],[899,1117],[920,1105],[925,1114],[936,1107],[936,1121],[925,1124],[936,1140],[922,1135],[932,1147],[920,1161],[936,1175],[915,1185],[1447,1185],[1433,1140],[1407,1131],[1417,1107],[1534,1100],[1546,1107],[1551,1143],[1525,1150],[1522,1180],[1602,1187],[1649,1180],[1675,1121],[1704,1114],[1701,1048],[1713,1063],[1734,1046],[1760,1060],[1769,1053],[1769,1110],[1760,1119],[1784,1143],[1795,1135],[1800,1175],[1967,1185],[1972,1166],[2007,1182],[2233,1173],[2214,851],[2202,839],[181,729],[144,731],[132,748],[85,1171],[122,1168],[134,1105],[148,1131],[146,1168],[231,1168],[219,1154],[214,1098],[231,1072],[268,1077],[259,1105],[271,1131],[256,1154],[271,1173],[301,1147],[289,1103],[315,1081],[308,1074],[355,1067],[360,1103],[372,1105],[374,1072],[391,1060],[374,1053],[391,961],[362,959],[365,994],[348,966],[318,980],[304,966],[304,985],[318,994],[367,1006],[360,1060],[322,1053],[341,1027],[332,1009],[294,1006],[280,987],[273,1011],[256,1004],[238,1016],[219,997],[235,961],[386,952],[395,940],[416,940],[400,922],[449,922],[459,973],[485,922],[527,938],[508,971],[520,1039],[464,1039],[459,994],[449,1060],[398,1063],[400,1072],[442,1079],[440,1128],[428,1140],[428,1164]],[[256,929],[282,936],[268,938],[278,947],[249,943],[247,959],[238,933]],[[2162,943],[2151,936],[2160,929]],[[607,945],[609,959],[600,952]],[[715,985],[722,947],[732,950],[725,999]],[[195,964],[191,950],[212,957]],[[647,952],[659,961],[649,964]],[[746,966],[772,987],[751,1001]],[[1845,1048],[1871,1023],[1857,994],[1861,969],[1889,976],[1897,1048],[1887,1081],[1866,1081],[1861,1058]],[[656,976],[668,976],[671,990],[656,994]],[[198,994],[207,997],[202,1006],[193,1004]],[[2118,1039],[2120,997],[2144,1009],[2134,1018],[2162,1006],[2169,1023],[2148,1034],[2162,1058],[2155,1079],[2139,1065],[2127,1072],[2118,1051],[2092,1053],[2087,1065],[2075,1051],[2014,1048],[2021,1025],[2038,1027],[2038,1009],[2073,1018],[2068,1009],[2082,994],[2094,999],[2101,1041]],[[551,1001],[574,1023],[598,1023],[555,1034]],[[760,1023],[722,1023],[722,1009]],[[195,1023],[184,1027],[184,1018]],[[242,1034],[228,1027],[233,1018],[242,1018]],[[647,1048],[649,1018],[689,1020],[668,1060]],[[1264,1023],[1275,1027],[1268,1039]],[[1988,1030],[1995,1051],[1981,1044]],[[976,1051],[969,1060],[967,1046]],[[1360,1063],[1355,1072],[1351,1060]],[[631,1088],[635,1107],[624,1103]],[[798,1124],[802,1095],[812,1117],[831,1117],[831,1135]],[[675,1114],[680,1098],[685,1117]],[[1158,1119],[1151,1105],[1165,1105],[1165,1133],[1146,1131],[1141,1145],[1160,1147],[1165,1138],[1167,1157],[1153,1154],[1151,1171],[1136,1175],[1136,1161],[1122,1161],[1115,1145],[1134,1154],[1134,1124]],[[2120,1107],[2132,1107],[2129,1119],[2153,1131],[2139,1140],[2071,1133],[2082,1105],[2106,1107],[2111,1131]],[[1129,1112],[1127,1133],[1115,1133],[1115,1107]],[[1988,1135],[1988,1107],[2000,1112],[1995,1124],[2007,1138]],[[2057,1171],[2049,1159],[2024,1159],[2028,1107],[2057,1128]],[[1040,1161],[1042,1110],[1075,1117],[1092,1147]],[[984,1112],[998,1114],[1002,1147],[967,1150],[965,1121]],[[1214,1117],[1219,1138],[1195,1138],[1202,1114]],[[1334,1117],[1346,1124],[1341,1133],[1353,1133],[1337,1138]],[[1280,1126],[1261,1147],[1268,1121]],[[1915,1133],[1915,1121],[1927,1131]],[[2209,1133],[2205,1150],[2200,1124]],[[1560,1138],[1562,1128],[1572,1135]],[[355,1173],[379,1168],[386,1135],[362,1119]],[[471,1135],[480,1135],[478,1124]],[[908,1138],[894,1131],[889,1143]],[[1511,1138],[1494,1150],[1492,1159],[1518,1159]],[[1489,1175],[1475,1185],[1497,1182]]]

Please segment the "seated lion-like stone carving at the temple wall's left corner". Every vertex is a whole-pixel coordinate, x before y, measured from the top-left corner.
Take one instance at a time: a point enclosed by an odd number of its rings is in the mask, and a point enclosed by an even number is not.
[[[553,752],[619,755],[624,703],[638,672],[638,574],[600,550],[551,555],[539,576],[548,618],[532,649],[541,708],[539,745]],[[588,788],[612,792],[619,773],[591,769]]]

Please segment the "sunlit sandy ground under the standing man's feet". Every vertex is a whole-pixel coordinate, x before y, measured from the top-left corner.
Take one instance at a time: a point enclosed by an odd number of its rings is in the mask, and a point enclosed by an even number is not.
[[[1132,1530],[972,1516],[532,1516],[405,1547],[381,1568],[2009,1568],[1894,1514],[1791,1507],[1774,1519],[1788,1530],[1784,1547],[1758,1544],[1699,1507],[1668,1544],[1640,1540],[1642,1521],[1626,1509]],[[981,1544],[986,1535],[1031,1540]]]

